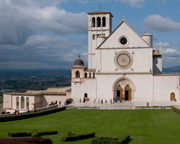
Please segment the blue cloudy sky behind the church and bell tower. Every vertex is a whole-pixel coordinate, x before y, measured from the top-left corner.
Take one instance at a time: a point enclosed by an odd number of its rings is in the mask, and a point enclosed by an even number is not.
[[[100,6],[101,5],[101,6]],[[88,12],[111,12],[113,30],[126,22],[153,34],[163,67],[180,65],[180,0],[0,0],[0,69],[87,66]]]

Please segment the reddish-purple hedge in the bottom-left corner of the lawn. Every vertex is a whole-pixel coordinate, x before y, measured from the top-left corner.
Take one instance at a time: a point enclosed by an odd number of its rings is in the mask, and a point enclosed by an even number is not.
[[[0,138],[0,144],[52,144],[48,138]]]

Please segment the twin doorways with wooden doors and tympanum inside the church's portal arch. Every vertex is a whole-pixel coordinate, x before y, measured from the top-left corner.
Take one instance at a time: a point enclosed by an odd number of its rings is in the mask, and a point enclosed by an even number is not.
[[[134,95],[134,84],[128,79],[118,79],[113,86],[113,99],[115,101],[131,101]]]

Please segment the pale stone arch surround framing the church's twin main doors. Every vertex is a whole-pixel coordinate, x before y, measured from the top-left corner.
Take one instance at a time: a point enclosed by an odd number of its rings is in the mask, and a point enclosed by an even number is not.
[[[128,95],[128,100],[133,100],[134,96],[135,96],[135,84],[133,83],[132,80],[130,80],[127,77],[120,77],[118,78],[112,87],[112,91],[113,91],[113,99],[117,99],[117,94],[118,94],[118,87],[121,86],[121,88],[123,89],[123,98],[125,99],[125,93],[126,91],[129,92]]]

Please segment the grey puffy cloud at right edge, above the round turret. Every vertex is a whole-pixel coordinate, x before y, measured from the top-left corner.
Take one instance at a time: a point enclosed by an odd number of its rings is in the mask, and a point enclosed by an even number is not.
[[[150,15],[146,17],[144,19],[144,26],[149,30],[160,32],[180,31],[180,23],[160,15]]]

